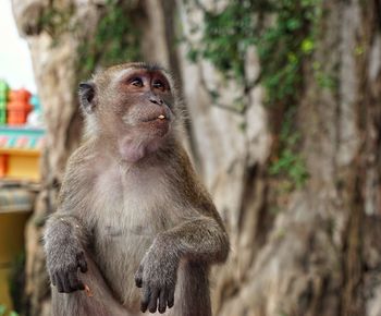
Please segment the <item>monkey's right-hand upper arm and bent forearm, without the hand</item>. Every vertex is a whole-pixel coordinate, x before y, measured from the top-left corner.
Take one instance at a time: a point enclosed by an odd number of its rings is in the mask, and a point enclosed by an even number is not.
[[[177,174],[173,177],[173,190],[179,191],[185,205],[189,205],[186,211],[189,218],[159,234],[155,243],[172,248],[181,259],[222,263],[226,260],[230,250],[222,219],[184,148],[179,146],[176,153],[174,161]]]

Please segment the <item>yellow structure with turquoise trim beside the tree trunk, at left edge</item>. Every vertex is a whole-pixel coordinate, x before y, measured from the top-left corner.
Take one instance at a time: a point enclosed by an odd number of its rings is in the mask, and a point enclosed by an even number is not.
[[[8,182],[38,182],[39,157],[45,131],[0,126],[0,305],[11,309],[10,271],[23,252],[24,228],[33,209],[34,194]]]

